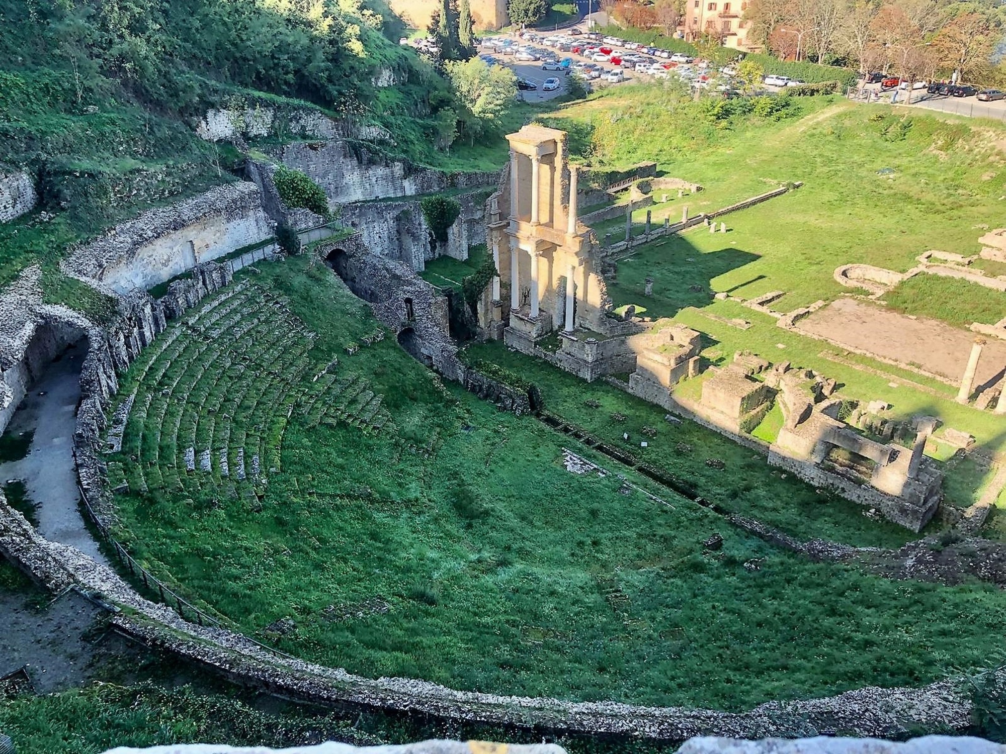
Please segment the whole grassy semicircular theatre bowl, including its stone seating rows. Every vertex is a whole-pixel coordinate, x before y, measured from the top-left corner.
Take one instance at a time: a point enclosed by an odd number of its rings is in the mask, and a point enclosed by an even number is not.
[[[306,256],[191,311],[126,377],[116,536],[242,631],[371,677],[740,709],[985,664],[998,589],[810,562],[585,446],[607,474],[577,473],[573,438],[442,383],[377,330]],[[573,385],[555,408],[585,397]],[[876,531],[656,418],[650,460],[680,473],[687,454],[703,495],[803,533]],[[723,458],[749,479],[722,486]]]

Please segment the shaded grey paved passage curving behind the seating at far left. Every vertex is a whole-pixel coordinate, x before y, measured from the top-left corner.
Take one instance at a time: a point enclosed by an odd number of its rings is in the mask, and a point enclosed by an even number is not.
[[[72,545],[99,563],[108,560],[98,549],[80,514],[80,496],[73,462],[73,430],[80,399],[82,345],[52,362],[33,385],[7,427],[8,432],[34,431],[28,454],[0,463],[0,481],[20,480],[35,505],[38,533],[48,540]]]

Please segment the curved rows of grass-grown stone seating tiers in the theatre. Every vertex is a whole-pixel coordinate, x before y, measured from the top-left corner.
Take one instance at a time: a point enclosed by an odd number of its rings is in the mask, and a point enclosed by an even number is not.
[[[110,409],[112,490],[247,494],[281,470],[293,416],[393,430],[381,396],[323,361],[316,339],[285,300],[248,280],[190,310],[134,362]]]

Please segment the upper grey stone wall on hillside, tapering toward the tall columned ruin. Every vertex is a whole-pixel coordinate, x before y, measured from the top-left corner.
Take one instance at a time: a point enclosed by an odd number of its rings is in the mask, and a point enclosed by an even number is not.
[[[444,173],[421,168],[349,140],[287,144],[273,150],[272,156],[311,176],[333,206],[449,188],[494,186],[499,180],[495,172]]]

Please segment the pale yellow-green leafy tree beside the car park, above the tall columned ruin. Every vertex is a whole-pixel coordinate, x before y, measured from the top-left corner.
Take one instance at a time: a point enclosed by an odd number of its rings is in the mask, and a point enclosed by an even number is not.
[[[487,132],[495,132],[513,107],[517,78],[509,68],[489,65],[478,57],[447,64],[447,74],[461,114],[462,129],[471,144]]]

